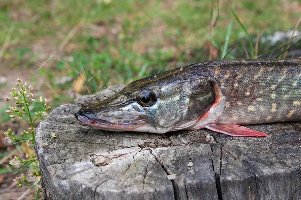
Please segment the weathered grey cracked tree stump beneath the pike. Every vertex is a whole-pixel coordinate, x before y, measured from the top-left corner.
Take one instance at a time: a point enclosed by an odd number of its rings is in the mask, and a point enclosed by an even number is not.
[[[123,87],[62,105],[40,123],[45,199],[300,199],[301,123],[251,125],[269,136],[239,138],[206,129],[110,132],[75,119],[81,106]]]

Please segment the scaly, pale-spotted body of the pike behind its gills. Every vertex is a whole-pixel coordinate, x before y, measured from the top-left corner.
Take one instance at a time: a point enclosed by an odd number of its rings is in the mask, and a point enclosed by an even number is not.
[[[240,60],[209,67],[226,98],[217,120],[241,125],[300,120],[300,65],[300,60]]]

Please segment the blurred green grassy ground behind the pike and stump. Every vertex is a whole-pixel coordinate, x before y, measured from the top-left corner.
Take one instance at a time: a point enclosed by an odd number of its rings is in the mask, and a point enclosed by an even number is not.
[[[1,0],[1,132],[24,126],[5,114],[17,78],[55,108],[191,63],[279,54],[288,44],[274,37],[298,32],[300,17],[299,0]],[[0,158],[8,145],[0,137]]]

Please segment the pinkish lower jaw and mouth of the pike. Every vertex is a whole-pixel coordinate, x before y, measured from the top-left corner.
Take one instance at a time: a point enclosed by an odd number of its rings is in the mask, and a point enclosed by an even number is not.
[[[132,119],[132,120],[139,120],[139,123],[136,124],[129,124],[129,123],[125,123],[125,122],[111,122],[108,120],[104,120],[101,118],[97,118],[97,119],[91,119],[90,117],[86,116],[85,114],[83,114],[82,112],[77,112],[74,114],[75,118],[84,123],[87,124],[89,126],[92,126],[94,128],[97,129],[102,129],[102,130],[109,130],[109,131],[133,131],[134,129],[145,125],[147,122],[145,120],[141,120],[140,118],[137,119]]]

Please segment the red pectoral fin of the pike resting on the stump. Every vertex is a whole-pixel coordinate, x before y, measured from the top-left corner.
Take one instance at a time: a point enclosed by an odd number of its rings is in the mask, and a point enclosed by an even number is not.
[[[268,134],[234,124],[211,123],[205,128],[235,137],[266,137]]]

